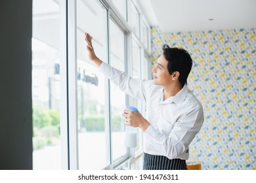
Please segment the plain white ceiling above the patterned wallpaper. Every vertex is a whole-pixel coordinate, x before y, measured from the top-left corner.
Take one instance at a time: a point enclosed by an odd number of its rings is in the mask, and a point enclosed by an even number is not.
[[[137,0],[163,32],[256,28],[255,0]],[[213,19],[213,20],[210,20]]]

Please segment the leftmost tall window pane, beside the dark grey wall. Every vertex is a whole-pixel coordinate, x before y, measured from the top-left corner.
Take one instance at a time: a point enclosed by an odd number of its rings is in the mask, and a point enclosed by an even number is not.
[[[61,169],[60,7],[33,1],[33,169]]]

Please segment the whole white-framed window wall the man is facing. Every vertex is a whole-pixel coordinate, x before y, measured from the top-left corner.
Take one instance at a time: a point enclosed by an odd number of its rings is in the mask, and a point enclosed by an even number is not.
[[[133,151],[124,146],[125,131],[137,133],[135,152],[142,150],[142,131],[126,126],[121,114],[127,104],[144,114],[144,103],[121,92],[87,58],[85,32],[102,61],[147,78],[139,11],[132,1],[112,3],[33,0],[33,169],[115,168]],[[132,32],[112,16],[117,9],[125,20],[132,15]]]

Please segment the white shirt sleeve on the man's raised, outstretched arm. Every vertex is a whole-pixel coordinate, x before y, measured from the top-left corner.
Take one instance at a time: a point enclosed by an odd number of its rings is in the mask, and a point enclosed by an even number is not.
[[[146,88],[148,88],[150,80],[132,78],[104,62],[100,65],[99,70],[116,84],[122,92],[140,101],[146,101]]]

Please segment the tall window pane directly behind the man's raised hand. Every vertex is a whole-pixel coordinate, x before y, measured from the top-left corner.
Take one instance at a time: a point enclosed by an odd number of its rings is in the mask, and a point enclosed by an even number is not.
[[[84,33],[93,36],[98,58],[106,61],[107,11],[92,0],[77,0],[77,116],[79,169],[103,169],[110,164],[106,83],[87,58]]]

